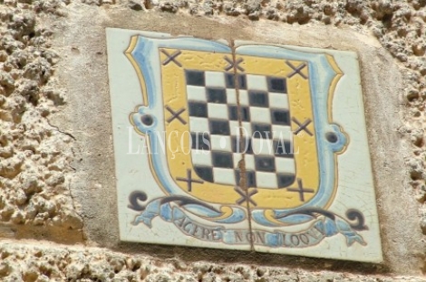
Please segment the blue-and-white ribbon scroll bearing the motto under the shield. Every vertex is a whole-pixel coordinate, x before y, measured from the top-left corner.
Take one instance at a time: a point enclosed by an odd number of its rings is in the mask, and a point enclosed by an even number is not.
[[[306,248],[319,244],[324,238],[337,234],[344,235],[346,244],[353,245],[356,241],[365,246],[363,237],[354,230],[350,222],[334,215],[334,219],[320,215],[311,221],[305,230],[285,232],[268,232],[264,230],[225,229],[223,226],[206,225],[195,221],[182,208],[172,206],[170,202],[162,203],[162,199],[149,202],[144,211],[138,215],[132,224],[140,222],[152,227],[152,220],[160,216],[163,221],[173,223],[182,233],[211,242],[223,242],[229,245],[242,245],[253,242],[255,245],[270,248]]]

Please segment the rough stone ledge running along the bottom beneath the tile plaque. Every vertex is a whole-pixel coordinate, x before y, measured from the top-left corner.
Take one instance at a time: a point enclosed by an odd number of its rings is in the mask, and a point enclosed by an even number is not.
[[[65,247],[34,241],[0,244],[0,280],[111,281],[111,282],[421,282],[422,277],[337,273],[331,270],[273,268],[208,259],[189,263],[179,258],[159,259],[121,254],[108,249]]]

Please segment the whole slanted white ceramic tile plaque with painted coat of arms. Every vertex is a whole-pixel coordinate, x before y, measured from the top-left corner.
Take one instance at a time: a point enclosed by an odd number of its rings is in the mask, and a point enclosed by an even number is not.
[[[121,240],[382,261],[355,52],[106,33]]]

